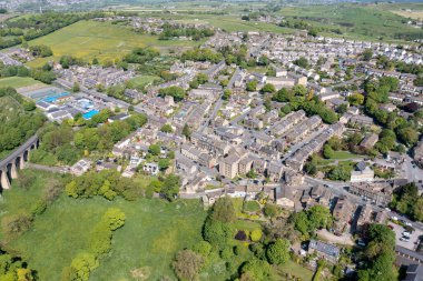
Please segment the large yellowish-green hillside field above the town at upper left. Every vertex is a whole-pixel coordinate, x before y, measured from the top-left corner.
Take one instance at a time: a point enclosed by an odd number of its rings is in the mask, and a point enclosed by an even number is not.
[[[29,44],[46,44],[53,51],[53,58],[37,59],[29,67],[40,67],[46,61],[58,60],[65,54],[85,60],[100,61],[120,59],[137,47],[155,47],[166,52],[170,49],[186,49],[200,42],[184,40],[158,40],[155,36],[140,34],[130,28],[109,22],[79,21],[48,36],[38,38]]]

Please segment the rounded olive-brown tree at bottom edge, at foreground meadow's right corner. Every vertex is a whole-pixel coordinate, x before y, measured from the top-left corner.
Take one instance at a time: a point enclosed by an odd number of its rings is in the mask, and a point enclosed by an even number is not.
[[[179,280],[194,281],[198,280],[204,258],[191,250],[183,250],[177,253],[171,264]]]

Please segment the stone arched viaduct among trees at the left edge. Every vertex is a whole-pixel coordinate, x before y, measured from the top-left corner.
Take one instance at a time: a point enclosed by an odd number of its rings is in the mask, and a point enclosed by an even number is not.
[[[39,142],[38,136],[32,136],[10,155],[0,160],[0,194],[3,190],[10,189],[11,180],[18,178],[18,170],[24,168],[24,162],[29,160],[30,151],[37,149]]]

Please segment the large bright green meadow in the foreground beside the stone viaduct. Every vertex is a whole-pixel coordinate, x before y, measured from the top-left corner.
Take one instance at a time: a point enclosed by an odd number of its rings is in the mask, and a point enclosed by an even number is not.
[[[45,192],[46,182],[60,177],[24,172],[36,177],[33,184],[27,190],[18,181],[13,182],[0,201],[0,219],[29,212]],[[102,198],[75,200],[62,194],[36,218],[28,232],[9,242],[8,249],[28,259],[40,280],[60,280],[62,268],[88,248],[92,225],[110,207],[126,213],[126,224],[114,233],[111,251],[100,260],[90,280],[134,280],[130,271],[146,267],[150,270],[149,280],[163,275],[175,278],[170,268],[175,253],[201,239],[206,212],[196,200],[167,203],[156,199],[134,202],[118,199],[110,202]],[[3,234],[0,238],[4,241]]]

